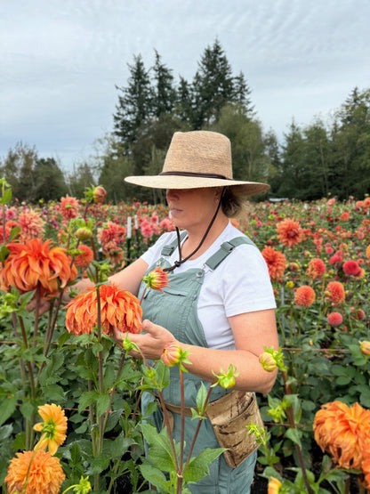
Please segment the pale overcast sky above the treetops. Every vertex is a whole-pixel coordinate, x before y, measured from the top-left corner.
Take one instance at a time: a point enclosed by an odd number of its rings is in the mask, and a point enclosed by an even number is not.
[[[370,0],[0,0],[0,158],[21,141],[70,169],[112,130],[134,55],[190,82],[216,37],[279,139],[370,88]]]

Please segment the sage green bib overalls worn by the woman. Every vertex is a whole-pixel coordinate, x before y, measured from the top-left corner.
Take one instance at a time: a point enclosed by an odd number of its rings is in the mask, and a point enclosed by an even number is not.
[[[186,232],[182,233],[186,234]],[[212,255],[205,264],[212,270],[216,269],[233,248],[244,243],[253,244],[252,240],[245,237],[237,237],[237,239],[223,243],[221,248]],[[156,264],[150,266],[147,272],[155,269],[158,265],[160,265],[162,269],[169,267],[170,264],[166,261],[165,257],[171,255],[176,246],[177,242],[175,240],[172,244],[163,247],[161,258]],[[178,274],[173,271],[170,271],[168,274],[168,287],[163,288],[165,293],[150,289],[146,291],[141,303],[143,317],[171,331],[173,336],[181,343],[194,344],[207,348],[208,345],[205,340],[205,332],[197,317],[197,298],[203,284],[205,270],[192,268]],[[139,299],[141,299],[143,290],[144,284],[141,284]],[[220,371],[217,362],[214,362],[213,370],[216,373]],[[180,405],[179,368],[170,368],[170,372],[170,385],[163,390],[164,399],[174,405]],[[202,382],[208,390],[211,383],[204,381],[200,377],[194,376],[189,372],[184,374],[186,407],[195,407],[197,391]],[[227,391],[221,388],[221,386],[215,386],[211,393],[211,401],[217,400],[225,393],[227,393]],[[149,402],[154,400],[154,397],[150,393],[143,393],[142,410],[145,411]],[[156,424],[159,432],[163,425],[162,410],[158,409],[150,418]],[[180,415],[173,413],[173,438],[177,442],[180,441],[180,424]],[[194,437],[196,427],[197,420],[192,420],[191,417],[185,417],[185,459],[187,458],[189,445]],[[192,456],[197,456],[205,448],[215,449],[219,447],[220,445],[213,433],[211,422],[208,419],[203,420]],[[248,494],[250,492],[251,483],[253,482],[256,457],[257,452],[254,451],[254,453],[246,458],[240,466],[231,468],[226,463],[223,455],[221,455],[210,465],[210,474],[205,477],[205,479],[197,483],[191,483],[187,487],[193,494]]]

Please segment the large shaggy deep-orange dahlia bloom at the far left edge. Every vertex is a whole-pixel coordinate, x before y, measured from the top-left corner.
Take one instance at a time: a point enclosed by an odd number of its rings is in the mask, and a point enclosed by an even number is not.
[[[66,249],[51,247],[51,240],[27,240],[25,244],[7,245],[9,255],[0,271],[0,286],[4,291],[16,287],[20,293],[40,288],[41,296],[55,296],[59,287],[66,287],[77,276]]]

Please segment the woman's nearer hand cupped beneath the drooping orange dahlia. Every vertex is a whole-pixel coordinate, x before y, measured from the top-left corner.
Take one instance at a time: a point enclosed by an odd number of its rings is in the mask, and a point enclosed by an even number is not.
[[[130,333],[128,337],[130,341],[139,346],[142,355],[146,359],[159,360],[161,358],[165,345],[176,341],[170,331],[162,328],[162,326],[153,324],[152,322],[150,322],[150,320],[143,320],[141,329],[142,331],[145,331],[145,334],[140,333],[134,335]],[[127,333],[122,333],[117,328],[113,329],[113,338],[119,348],[122,348],[122,342],[124,341],[125,336],[127,336]],[[129,353],[135,359],[141,359],[140,352],[132,351]]]

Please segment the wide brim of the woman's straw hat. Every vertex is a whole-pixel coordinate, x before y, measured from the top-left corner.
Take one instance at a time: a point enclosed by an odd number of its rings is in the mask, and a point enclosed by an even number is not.
[[[203,187],[235,187],[245,196],[261,194],[269,190],[267,183],[242,182],[210,177],[193,177],[179,175],[138,175],[127,176],[125,182],[149,187],[151,189],[201,189]]]

